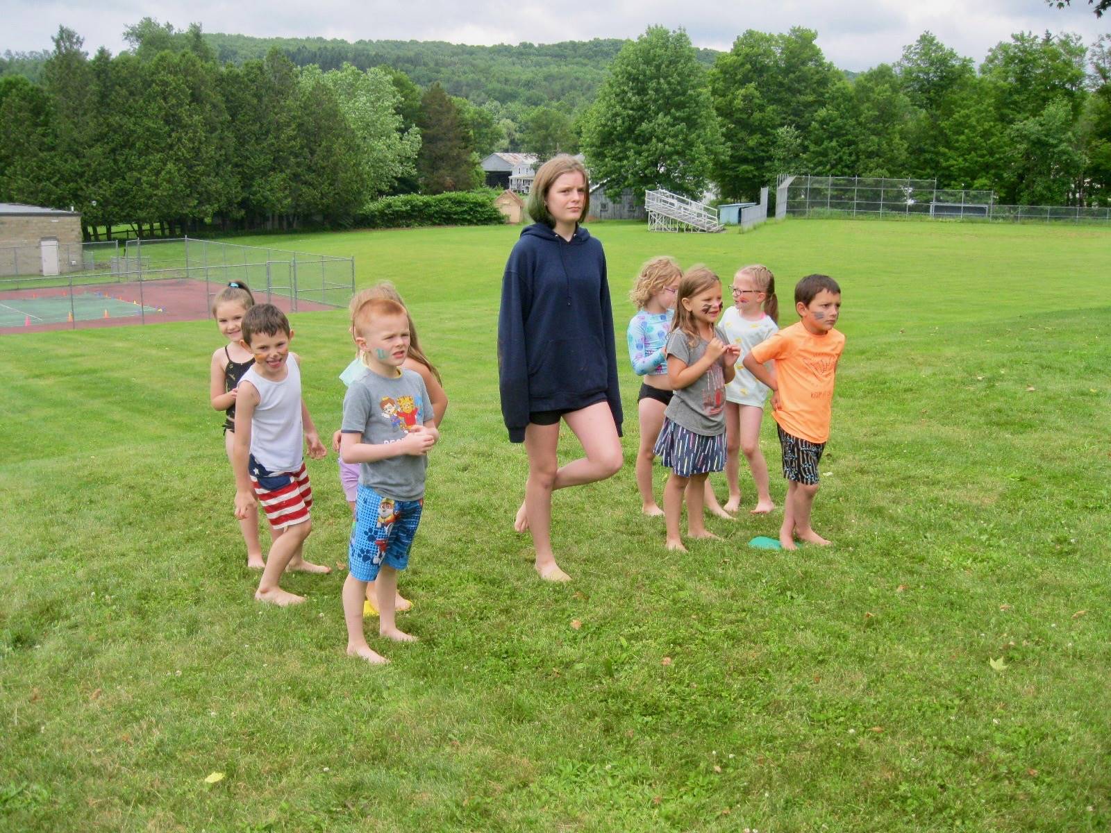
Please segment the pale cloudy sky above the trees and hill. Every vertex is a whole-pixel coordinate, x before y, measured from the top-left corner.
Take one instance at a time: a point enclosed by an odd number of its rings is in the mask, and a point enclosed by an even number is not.
[[[861,70],[898,60],[903,46],[929,29],[963,56],[981,61],[1012,32],[1047,29],[1081,34],[1091,43],[1111,32],[1111,14],[1097,20],[1087,0],[1049,8],[1044,0],[615,0],[574,3],[564,13],[534,0],[0,0],[0,52],[50,48],[59,24],[77,30],[89,52],[123,49],[123,29],[144,16],[184,29],[258,37],[344,40],[446,40],[453,43],[551,43],[590,38],[634,38],[660,23],[683,27],[695,46],[729,49],[745,29],[818,30],[818,43],[838,67]],[[560,20],[562,18],[562,21]]]

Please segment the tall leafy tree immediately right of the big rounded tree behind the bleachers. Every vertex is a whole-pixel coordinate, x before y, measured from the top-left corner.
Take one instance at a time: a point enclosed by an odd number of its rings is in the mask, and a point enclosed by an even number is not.
[[[714,179],[729,199],[754,198],[777,173],[775,131],[811,136],[811,122],[840,73],[822,56],[813,30],[785,34],[748,30],[710,70],[713,107],[724,138]]]

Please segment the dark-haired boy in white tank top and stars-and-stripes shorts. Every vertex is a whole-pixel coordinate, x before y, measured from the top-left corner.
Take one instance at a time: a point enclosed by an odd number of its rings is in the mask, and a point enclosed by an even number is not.
[[[289,351],[293,331],[286,314],[273,304],[256,304],[243,315],[241,329],[241,343],[254,355],[254,364],[240,380],[236,397],[231,460],[236,471],[236,516],[246,518],[262,503],[273,543],[254,598],[286,606],[304,601],[304,596],[278,586],[287,568],[307,573],[331,572],[301,556],[312,530],[312,489],[304,469],[302,433],[309,456],[319,460],[327,451],[301,399],[300,359]],[[289,361],[290,357],[293,361]]]

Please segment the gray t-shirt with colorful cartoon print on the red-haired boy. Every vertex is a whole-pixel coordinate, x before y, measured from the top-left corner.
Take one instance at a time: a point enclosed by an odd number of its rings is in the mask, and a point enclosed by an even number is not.
[[[387,379],[366,368],[343,397],[340,431],[362,434],[363,442],[379,445],[406,439],[413,426],[431,419],[432,405],[420,373],[402,368],[400,377]],[[427,454],[399,454],[360,463],[359,482],[384,498],[416,501],[424,496],[427,468]]]

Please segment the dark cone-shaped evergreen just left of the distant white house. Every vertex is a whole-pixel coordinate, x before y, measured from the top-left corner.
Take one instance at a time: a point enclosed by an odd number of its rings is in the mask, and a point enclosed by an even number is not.
[[[417,126],[421,148],[417,157],[424,193],[469,191],[479,182],[478,159],[467,124],[448,93],[433,83],[421,98]]]

